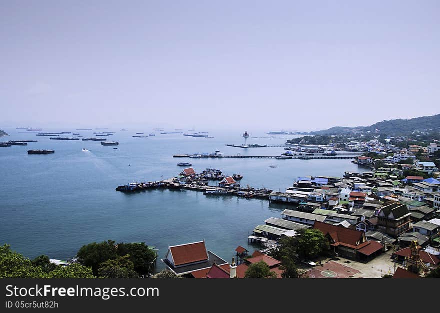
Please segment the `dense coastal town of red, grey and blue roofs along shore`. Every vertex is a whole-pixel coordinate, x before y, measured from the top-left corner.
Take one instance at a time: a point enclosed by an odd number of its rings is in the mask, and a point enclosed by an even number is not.
[[[161,262],[173,275],[188,278],[250,277],[248,270],[256,263],[265,265],[273,274],[267,277],[277,278],[438,277],[435,275],[440,266],[440,142],[399,147],[389,141],[351,140],[327,146],[298,143],[287,148],[302,153],[331,148],[335,150],[329,153],[334,154],[337,150],[360,151],[362,155],[352,163],[362,171],[345,172],[341,177],[297,177],[284,192],[260,193],[270,202],[285,205],[285,209],[255,225],[247,238],[247,249],[238,245],[229,262],[207,250],[203,240],[170,246]],[[197,177],[193,168],[180,175]],[[178,179],[173,181],[175,186]],[[240,192],[239,183],[232,177],[228,179],[221,181],[219,186],[224,191],[217,194]],[[194,180],[192,184],[196,185],[193,190],[202,188]],[[328,247],[302,260],[304,254],[296,254],[293,258],[298,270],[292,276],[289,266],[283,265],[289,260],[274,256],[279,255],[277,252],[288,240],[301,241],[307,230],[319,231]],[[255,247],[254,251],[250,252],[249,247]]]

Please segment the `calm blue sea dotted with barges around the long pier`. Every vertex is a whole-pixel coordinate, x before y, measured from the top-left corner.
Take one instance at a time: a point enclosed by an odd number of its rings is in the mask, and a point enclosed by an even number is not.
[[[118,149],[98,141],[57,141],[35,133],[5,129],[10,136],[0,141],[36,139],[27,146],[0,148],[0,243],[33,258],[40,254],[55,259],[75,255],[84,244],[107,239],[116,242],[145,242],[155,245],[163,258],[168,245],[204,239],[207,248],[229,261],[254,226],[269,217],[279,217],[283,205],[230,196],[204,196],[194,191],[156,190],[136,194],[116,192],[118,185],[132,181],[173,177],[181,168],[177,162],[191,162],[196,171],[206,167],[226,174],[243,175],[241,185],[284,191],[304,175],[341,176],[359,171],[350,160],[276,159],[179,159],[176,153],[279,155],[283,148],[240,149],[239,133],[210,132],[215,138],[181,134],[132,138],[135,132],[116,131],[107,141],[119,141]],[[94,137],[93,131],[79,132]],[[199,130],[203,131],[203,130]],[[71,135],[60,135],[71,136]],[[264,134],[251,136],[267,137]],[[253,139],[248,143],[282,144],[285,139]],[[82,148],[89,151],[84,152]],[[27,155],[28,149],[54,149],[50,155]],[[276,168],[269,168],[276,165]],[[253,247],[249,247],[253,251]],[[157,262],[157,269],[163,268]]]

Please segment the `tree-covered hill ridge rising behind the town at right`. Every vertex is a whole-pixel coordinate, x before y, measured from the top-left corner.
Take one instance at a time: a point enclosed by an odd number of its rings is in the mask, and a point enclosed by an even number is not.
[[[359,131],[377,132],[384,135],[409,135],[414,130],[426,132],[440,129],[440,114],[421,116],[410,119],[391,119],[374,123],[370,126],[343,127],[336,126],[324,130],[311,131],[311,135],[345,135]]]

